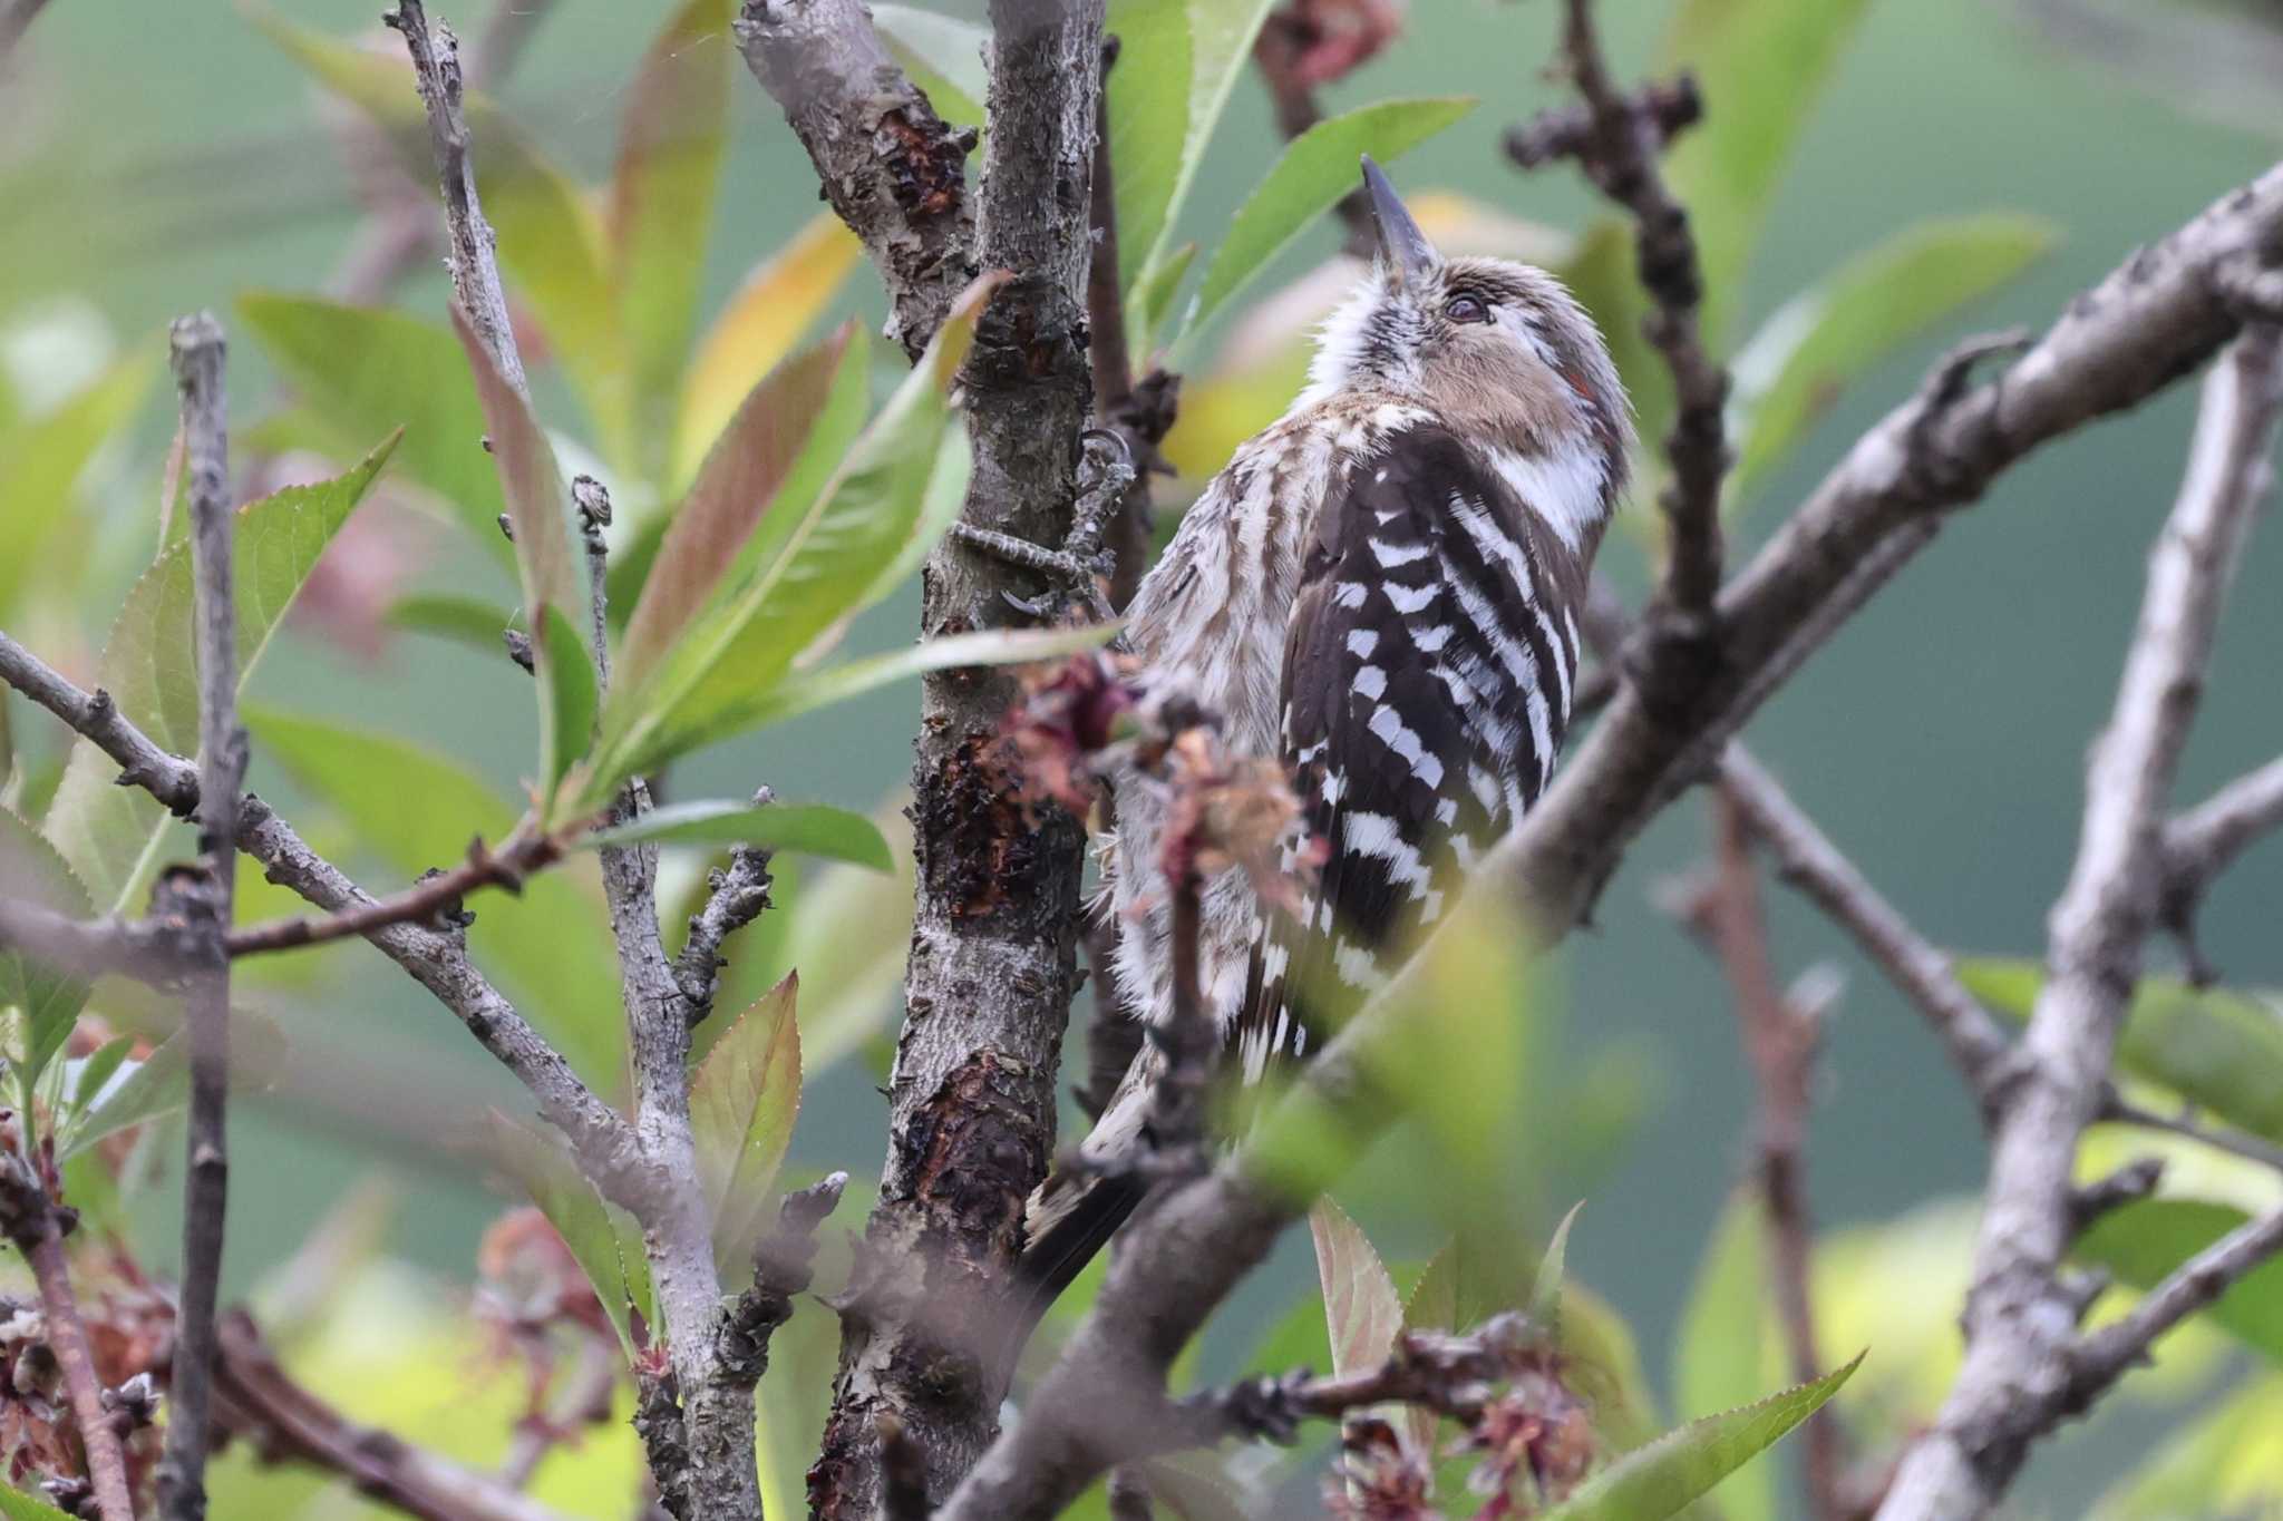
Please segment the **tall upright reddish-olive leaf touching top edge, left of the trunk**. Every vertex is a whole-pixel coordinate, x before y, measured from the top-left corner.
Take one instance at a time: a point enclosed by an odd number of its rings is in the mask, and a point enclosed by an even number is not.
[[[632,454],[664,486],[676,399],[728,146],[728,0],[685,0],[628,91],[610,182],[612,285],[632,385]]]

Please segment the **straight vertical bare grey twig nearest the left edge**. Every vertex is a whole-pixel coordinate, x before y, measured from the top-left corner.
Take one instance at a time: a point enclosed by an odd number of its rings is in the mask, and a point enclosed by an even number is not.
[[[189,1136],[183,1177],[183,1286],[176,1304],[167,1455],[158,1469],[167,1521],[205,1516],[208,1402],[215,1375],[215,1300],[228,1202],[231,960],[224,937],[237,885],[237,789],[247,734],[237,725],[237,600],[228,472],[228,404],[221,326],[174,324],[174,374],[183,392],[183,458],[199,648],[199,848],[203,880],[183,892],[199,942],[189,981]]]

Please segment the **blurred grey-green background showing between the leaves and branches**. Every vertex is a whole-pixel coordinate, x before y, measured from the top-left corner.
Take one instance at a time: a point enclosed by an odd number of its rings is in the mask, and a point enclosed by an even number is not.
[[[279,9],[306,25],[354,32],[374,25],[377,7],[292,0]],[[450,14],[473,32],[463,9]],[[977,14],[979,5],[938,9]],[[1632,0],[1603,9],[1621,71],[1646,66],[1667,7]],[[2274,75],[2262,98],[2256,87],[2230,93],[2226,78],[2201,66],[2162,66],[2203,36],[2210,11],[1977,0],[1870,7],[1776,201],[1740,294],[1740,331],[1920,217],[2034,212],[2052,219],[2062,239],[2023,278],[1856,383],[1737,524],[1737,561],[1865,424],[1909,392],[1943,344],[1970,328],[2048,322],[2135,244],[2274,160],[2283,141]],[[628,75],[660,18],[662,7],[651,5],[559,0],[500,91],[584,180],[607,173]],[[1413,0],[1399,43],[1331,87],[1326,105],[1390,93],[1482,96],[1477,114],[1404,160],[1397,180],[1411,192],[1450,187],[1518,217],[1582,226],[1594,201],[1573,171],[1525,178],[1498,153],[1504,123],[1562,93],[1543,75],[1555,18],[1546,0]],[[2123,43],[2121,25],[2137,27]],[[2105,39],[2112,57],[2089,52],[2087,36]],[[2125,80],[2135,73],[2144,84]],[[1708,107],[1719,112],[1721,100]],[[806,157],[742,66],[733,121],[703,312],[817,210]],[[18,331],[37,319],[50,335],[107,333],[155,353],[176,312],[212,306],[228,317],[244,290],[315,290],[361,214],[304,75],[244,14],[210,0],[53,0],[0,82],[0,135],[14,144],[0,155],[14,160],[0,164],[0,319]],[[1189,230],[1221,226],[1274,148],[1265,93],[1247,78],[1205,160]],[[1301,274],[1336,242],[1333,226],[1315,228],[1274,278]],[[881,303],[868,271],[842,299],[877,322]],[[438,315],[441,274],[413,280],[400,301]],[[1185,358],[1210,358],[1212,347],[1205,335]],[[272,381],[251,342],[233,349],[231,379],[240,420],[258,417]],[[2173,388],[2141,413],[2089,429],[2007,474],[1749,732],[1833,839],[1945,944],[2041,951],[2043,914],[2075,844],[2082,755],[2112,696],[2141,559],[2178,481],[2189,415],[2192,388]],[[148,552],[164,429],[164,406],[153,399],[144,415],[153,447],[112,461],[89,493],[100,506],[87,522],[87,550],[105,572],[91,581],[105,586],[100,595],[75,609],[41,609],[11,634],[59,659],[78,648],[84,670],[91,645],[73,641],[100,636]],[[404,552],[473,559],[445,534]],[[459,566],[413,566],[418,584],[470,579]],[[1612,536],[1605,566],[1628,591],[1644,584],[1641,556],[1621,536]],[[2276,586],[2283,536],[2265,531],[2253,538],[2228,609],[2183,800],[2283,750]],[[852,648],[890,648],[909,627],[911,604],[900,600],[872,613]],[[397,636],[349,652],[304,629],[281,643],[256,691],[269,705],[420,739],[514,787],[532,743],[523,682],[505,661],[443,641]],[[769,782],[785,798],[870,810],[906,773],[913,705],[913,689],[900,686],[831,709],[708,753],[676,784],[685,796],[735,796]],[[253,782],[295,796],[260,759]],[[418,805],[418,796],[402,798],[406,810]],[[1639,1122],[1621,1147],[1594,1156],[1575,1156],[1559,1136],[1539,1138],[1555,1181],[1532,1181],[1568,1188],[1575,1179],[1589,1195],[1571,1241],[1573,1272],[1632,1316],[1648,1348],[1667,1343],[1705,1231],[1746,1156],[1751,1095],[1726,985],[1651,903],[1662,878],[1701,855],[1705,835],[1694,798],[1673,807],[1610,885],[1596,928],[1566,946],[1557,978],[1566,1049],[1578,1063],[1600,1051],[1594,1069],[1612,1113],[1637,1104]],[[384,871],[372,876],[386,880]],[[1936,1195],[1975,1190],[1977,1126],[1936,1044],[1820,921],[1783,894],[1769,901],[1788,971],[1829,958],[1849,974],[1813,1126],[1817,1220],[1883,1220]],[[2253,853],[2228,878],[2205,914],[2205,949],[2235,983],[2283,983],[2283,851]],[[363,958],[354,967],[365,971],[377,960],[365,951],[345,955]],[[274,1266],[374,1161],[400,1174],[400,1247],[427,1268],[468,1277],[475,1238],[500,1195],[484,1190],[463,1154],[438,1142],[454,1138],[482,1104],[511,1101],[507,1083],[395,976],[326,981],[322,1001],[281,1019],[290,1076],[269,1099],[240,1108],[235,1122],[231,1279],[249,1284]],[[858,1063],[808,1092],[797,1165],[877,1168],[884,1104],[870,1083]],[[1370,1172],[1358,1188],[1363,1213],[1374,1186],[1399,1184],[1395,1163]],[[153,1256],[164,1259],[174,1222],[153,1211],[146,1225]],[[1278,1272],[1249,1293],[1240,1316],[1278,1307],[1306,1272],[1306,1250],[1288,1250]],[[1251,1332],[1237,1341],[1249,1345]],[[1854,1350],[1826,1348],[1833,1359]],[[1662,1377],[1662,1359],[1648,1361]],[[2098,1441],[2078,1434],[2041,1455],[2023,1489],[2025,1512],[2075,1514],[2139,1441],[2130,1414],[2096,1430]]]

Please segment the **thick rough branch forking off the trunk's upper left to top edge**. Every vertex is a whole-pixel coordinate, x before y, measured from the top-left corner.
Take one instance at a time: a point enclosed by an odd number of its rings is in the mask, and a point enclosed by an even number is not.
[[[735,32],[888,285],[888,337],[920,358],[979,271],[966,194],[975,135],[936,116],[858,0],[744,0]]]

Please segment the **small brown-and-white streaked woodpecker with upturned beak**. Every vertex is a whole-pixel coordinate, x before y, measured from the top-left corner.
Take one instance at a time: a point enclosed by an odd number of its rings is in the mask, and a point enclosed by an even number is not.
[[[1536,803],[1568,727],[1580,616],[1625,490],[1632,408],[1552,274],[1443,258],[1363,160],[1377,260],[1324,322],[1308,383],[1180,520],[1128,607],[1144,686],[1274,755],[1320,860],[1297,912],[1242,869],[1201,885],[1196,978],[1247,1083],[1306,1060],[1450,912]],[[1167,796],[1112,778],[1107,912],[1130,1010],[1171,1012]],[[1023,1277],[1050,1300],[1142,1197],[1144,1044],[1032,1197]]]

